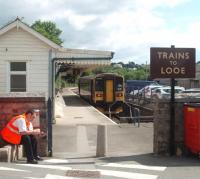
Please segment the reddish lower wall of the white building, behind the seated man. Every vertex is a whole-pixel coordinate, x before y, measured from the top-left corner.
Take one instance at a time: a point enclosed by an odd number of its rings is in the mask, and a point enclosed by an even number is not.
[[[40,110],[40,129],[47,132],[46,102],[44,97],[0,97],[0,130],[7,122],[28,109]],[[0,146],[4,145],[1,143]],[[41,156],[47,155],[47,138],[38,139],[38,152]]]

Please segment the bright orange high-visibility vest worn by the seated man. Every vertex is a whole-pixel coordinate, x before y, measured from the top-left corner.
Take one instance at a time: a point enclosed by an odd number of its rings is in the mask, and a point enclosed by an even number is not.
[[[18,115],[13,117],[8,124],[6,125],[5,128],[2,129],[1,131],[1,136],[2,138],[7,141],[8,143],[11,144],[20,144],[21,142],[21,137],[22,135],[19,133],[19,129],[18,127],[14,126],[14,122],[19,119],[19,118],[23,118],[26,122],[26,127],[27,130],[29,130],[29,126],[30,126],[30,122],[27,121],[26,119],[26,115],[22,114],[22,115]]]

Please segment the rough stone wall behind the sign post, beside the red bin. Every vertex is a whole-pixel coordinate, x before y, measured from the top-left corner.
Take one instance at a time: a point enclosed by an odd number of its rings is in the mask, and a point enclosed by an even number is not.
[[[175,101],[175,154],[184,154],[184,104],[200,103],[200,99],[176,99]],[[170,101],[157,100],[154,109],[154,153],[170,154]]]

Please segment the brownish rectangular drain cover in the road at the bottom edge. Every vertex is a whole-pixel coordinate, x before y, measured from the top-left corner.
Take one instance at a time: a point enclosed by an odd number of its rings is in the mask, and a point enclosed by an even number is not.
[[[67,170],[66,176],[83,177],[83,178],[100,178],[101,174],[99,171]]]

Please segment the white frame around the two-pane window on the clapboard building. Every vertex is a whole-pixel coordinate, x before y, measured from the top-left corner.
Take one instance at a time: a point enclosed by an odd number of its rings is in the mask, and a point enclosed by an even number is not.
[[[24,63],[26,63],[26,71],[11,71],[10,70],[10,66],[11,66],[11,63],[12,62],[24,62]],[[9,61],[8,63],[7,63],[7,71],[8,71],[8,75],[7,75],[7,77],[8,77],[8,79],[7,79],[7,92],[8,93],[26,93],[26,92],[28,92],[29,91],[29,85],[28,85],[28,77],[29,77],[29,62],[28,61]],[[26,75],[26,91],[23,91],[23,92],[13,92],[13,91],[11,91],[11,85],[10,85],[10,83],[11,83],[11,81],[10,81],[10,76],[11,75]]]

